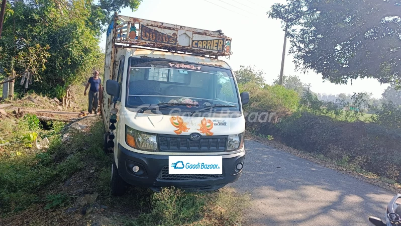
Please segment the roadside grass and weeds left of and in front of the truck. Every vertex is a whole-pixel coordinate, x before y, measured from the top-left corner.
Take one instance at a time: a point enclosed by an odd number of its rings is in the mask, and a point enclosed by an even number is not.
[[[29,121],[31,120],[31,121]],[[6,120],[7,121],[7,120]],[[27,117],[12,122],[0,121],[0,131],[10,140],[35,128],[35,119]],[[175,188],[164,188],[155,193],[150,189],[129,187],[123,197],[110,194],[112,155],[103,152],[103,124],[94,122],[90,131],[70,131],[72,142],[63,144],[59,131],[63,124],[53,123],[53,130],[36,128],[40,137],[48,137],[50,147],[36,150],[21,144],[2,149],[0,155],[0,216],[27,218],[25,214],[40,206],[41,211],[54,212],[49,217],[65,217],[61,213],[74,198],[65,190],[58,190],[63,181],[85,169],[88,162],[95,167],[91,192],[98,193],[102,204],[116,211],[102,217],[111,217],[110,225],[241,225],[242,210],[249,205],[249,195],[230,189],[220,192],[184,193]],[[6,133],[6,131],[13,131]],[[0,148],[4,148],[0,146]],[[20,153],[20,154],[17,154]],[[86,172],[86,171],[83,171]],[[61,184],[61,185],[60,185]],[[121,208],[121,210],[119,210]],[[24,209],[29,209],[23,211]],[[127,211],[129,209],[130,211]],[[56,212],[60,212],[57,214]],[[21,214],[21,215],[19,215]],[[91,212],[87,214],[93,214]],[[62,222],[61,218],[34,218],[37,225]],[[83,223],[86,225],[86,223]],[[109,224],[108,224],[109,225]]]

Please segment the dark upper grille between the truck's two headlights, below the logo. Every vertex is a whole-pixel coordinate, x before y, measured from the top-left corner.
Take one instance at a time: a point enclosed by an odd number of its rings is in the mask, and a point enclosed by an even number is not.
[[[160,151],[225,151],[227,137],[201,138],[192,141],[188,136],[159,135]]]

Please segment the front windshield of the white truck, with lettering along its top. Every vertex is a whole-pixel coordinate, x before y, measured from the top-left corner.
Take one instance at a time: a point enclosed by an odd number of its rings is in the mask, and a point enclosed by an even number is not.
[[[176,61],[131,58],[128,73],[128,107],[177,103],[166,108],[179,108],[183,111],[201,111],[202,108],[216,112],[240,111],[237,89],[230,70]],[[230,107],[209,107],[213,105]]]

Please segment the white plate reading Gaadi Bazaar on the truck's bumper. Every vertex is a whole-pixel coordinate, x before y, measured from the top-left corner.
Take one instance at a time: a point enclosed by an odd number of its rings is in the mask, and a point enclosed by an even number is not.
[[[169,156],[169,174],[222,174],[222,156]]]

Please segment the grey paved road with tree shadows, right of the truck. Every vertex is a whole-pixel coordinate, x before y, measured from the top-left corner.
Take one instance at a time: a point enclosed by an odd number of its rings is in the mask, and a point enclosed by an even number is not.
[[[246,141],[246,151],[242,177],[231,186],[251,193],[245,218],[252,226],[369,225],[367,217],[382,217],[394,195],[255,141]]]

